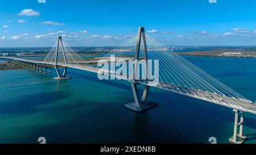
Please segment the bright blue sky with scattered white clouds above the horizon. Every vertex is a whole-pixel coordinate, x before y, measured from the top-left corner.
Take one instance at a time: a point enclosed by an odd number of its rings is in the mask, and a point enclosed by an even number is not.
[[[251,0],[2,0],[0,47],[118,45],[140,26],[166,45],[256,45],[255,19]]]

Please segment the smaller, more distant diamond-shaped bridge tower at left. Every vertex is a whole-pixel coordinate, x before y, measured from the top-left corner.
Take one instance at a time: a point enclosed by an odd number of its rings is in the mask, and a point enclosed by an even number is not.
[[[63,45],[62,37],[59,36],[58,39],[57,39],[57,49],[56,49],[56,57],[55,57],[55,69],[56,69],[56,72],[57,72],[57,77],[53,78],[53,79],[57,79],[57,80],[69,79],[69,78],[71,78],[71,77],[67,77],[67,76],[66,76],[66,74],[67,74],[67,69],[68,69],[67,66],[64,67],[63,74],[61,75],[61,74],[60,74],[60,70],[59,70],[58,65],[57,65],[58,56],[59,56],[59,47],[60,47],[60,43],[61,43],[61,51],[63,52],[64,62],[65,62],[65,64],[67,64],[67,60],[66,60],[66,56],[65,56],[65,52],[64,52],[64,45]]]

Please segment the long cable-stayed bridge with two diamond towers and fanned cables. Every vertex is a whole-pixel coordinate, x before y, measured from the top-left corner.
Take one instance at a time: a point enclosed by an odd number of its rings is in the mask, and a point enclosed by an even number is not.
[[[61,37],[58,37],[56,44],[42,60],[0,58],[34,66],[44,73],[49,73],[46,71],[47,68],[49,70],[54,67],[57,80],[70,78],[67,76],[68,68],[125,79],[131,82],[135,100],[125,104],[125,107],[134,111],[148,110],[156,106],[155,103],[147,100],[150,87],[232,108],[235,112],[234,135],[229,140],[233,143],[243,143],[246,139],[243,136],[244,112],[256,114],[256,105],[253,102],[159,43],[154,37],[145,33],[142,27],[139,28],[138,35],[131,36],[123,44],[101,57],[82,58],[69,48]],[[60,73],[60,67],[64,68],[63,73]],[[144,85],[142,95],[139,95],[137,85]],[[238,123],[239,115],[240,123]],[[238,126],[240,132],[237,134]]]

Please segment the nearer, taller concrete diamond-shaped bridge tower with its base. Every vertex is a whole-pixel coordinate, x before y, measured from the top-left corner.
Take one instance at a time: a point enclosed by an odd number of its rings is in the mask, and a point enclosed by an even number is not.
[[[143,57],[144,57],[144,60],[146,60],[146,67],[147,67],[147,46],[146,46],[146,37],[145,37],[144,27],[139,27],[138,38],[137,38],[137,47],[136,47],[135,57],[134,57],[135,60],[139,60],[141,41],[142,41],[142,48],[143,48]],[[135,101],[125,104],[125,107],[129,108],[130,110],[140,112],[140,111],[148,110],[150,108],[154,108],[157,105],[155,103],[147,101],[148,91],[150,89],[150,86],[148,86],[148,85],[144,85],[142,98],[140,98],[138,87],[137,87],[137,85],[140,85],[140,83],[138,83],[135,79],[137,77],[137,69],[138,68],[139,68],[138,64],[135,63],[134,69],[133,69],[133,72],[134,72],[133,81],[130,81],[131,89],[133,90],[133,95],[134,95]],[[147,67],[147,69],[148,69],[148,67]],[[148,70],[146,70],[146,77],[148,79]]]

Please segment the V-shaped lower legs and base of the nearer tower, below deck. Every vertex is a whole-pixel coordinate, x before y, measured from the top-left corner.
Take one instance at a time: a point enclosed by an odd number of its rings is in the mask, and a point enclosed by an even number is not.
[[[131,83],[131,89],[133,90],[135,101],[125,104],[125,107],[137,112],[145,111],[150,108],[156,107],[157,105],[155,103],[152,103],[147,100],[147,95],[148,95],[150,86],[147,86],[147,85],[144,86],[142,98],[140,99],[137,85],[139,85],[139,83],[135,83],[135,82]]]

